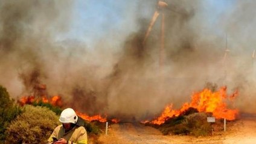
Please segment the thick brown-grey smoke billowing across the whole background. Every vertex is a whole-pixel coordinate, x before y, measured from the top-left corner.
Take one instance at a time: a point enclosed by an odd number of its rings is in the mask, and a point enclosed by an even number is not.
[[[178,109],[207,82],[227,85],[229,92],[238,88],[243,101],[235,107],[253,106],[256,2],[234,2],[217,19],[209,19],[214,8],[207,1],[166,2],[159,65],[161,15],[142,43],[156,1],[127,1],[123,26],[101,35],[90,49],[85,41],[56,38],[72,29],[73,2],[0,0],[0,83],[13,97],[45,84],[66,106],[121,119],[152,118],[170,103]]]

